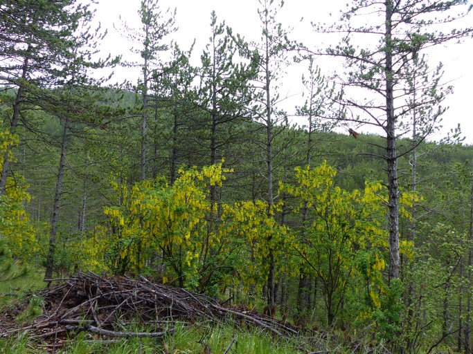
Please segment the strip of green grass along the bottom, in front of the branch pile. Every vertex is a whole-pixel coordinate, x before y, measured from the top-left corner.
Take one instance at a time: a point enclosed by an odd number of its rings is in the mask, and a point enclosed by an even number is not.
[[[144,328],[127,328],[143,332]],[[89,333],[79,333],[62,348],[61,354],[298,354],[298,353],[372,353],[386,354],[384,346],[359,345],[354,348],[346,342],[334,342],[320,337],[277,338],[261,330],[245,330],[233,326],[196,323],[178,324],[175,333],[163,338],[100,339]],[[53,347],[35,342],[26,335],[0,339],[0,353],[46,354]]]

